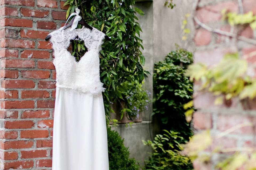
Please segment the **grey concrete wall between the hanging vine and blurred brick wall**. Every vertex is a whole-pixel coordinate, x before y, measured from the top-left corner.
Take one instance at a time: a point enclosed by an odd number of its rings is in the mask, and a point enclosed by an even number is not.
[[[140,8],[145,15],[138,15],[139,23],[143,33],[142,50],[146,58],[145,69],[153,74],[154,62],[163,60],[166,54],[175,50],[175,44],[181,47],[193,50],[194,45],[191,41],[193,35],[189,35],[188,41],[182,41],[182,20],[185,14],[191,13],[191,4],[193,0],[174,1],[176,7],[170,9],[164,6],[165,0],[137,1],[135,6]],[[188,25],[193,23],[189,21]],[[193,28],[193,27],[191,27]],[[193,31],[193,30],[191,30]],[[145,88],[153,94],[153,77],[149,76],[146,80]],[[152,96],[151,96],[152,97]],[[152,140],[157,133],[161,133],[158,125],[152,121],[152,105],[149,110],[143,113],[143,122],[136,123],[126,128],[125,125],[112,127],[119,132],[125,139],[125,145],[130,148],[131,157],[135,157],[140,164],[144,165],[144,160],[150,156],[151,149],[144,146],[141,140]],[[150,136],[151,132],[151,136]]]

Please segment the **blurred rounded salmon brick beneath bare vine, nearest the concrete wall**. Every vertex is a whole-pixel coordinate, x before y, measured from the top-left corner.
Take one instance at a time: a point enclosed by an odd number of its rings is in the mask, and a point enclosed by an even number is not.
[[[211,38],[211,32],[200,28],[195,33],[194,41],[197,46],[208,45],[211,42]]]

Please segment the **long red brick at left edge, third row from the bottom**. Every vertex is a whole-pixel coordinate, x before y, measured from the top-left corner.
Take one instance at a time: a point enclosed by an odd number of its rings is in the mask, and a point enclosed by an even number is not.
[[[23,148],[31,148],[34,145],[33,141],[6,141],[1,149],[23,149]]]

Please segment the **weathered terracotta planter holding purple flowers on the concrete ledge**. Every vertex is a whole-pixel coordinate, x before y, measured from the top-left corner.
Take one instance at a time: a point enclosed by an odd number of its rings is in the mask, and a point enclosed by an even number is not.
[[[116,114],[111,113],[111,119],[117,119],[119,121],[118,124],[123,124],[123,123],[129,123],[129,122],[142,122],[142,113],[139,112],[139,114],[137,115],[137,117],[135,117],[134,119],[129,119],[129,115],[124,112],[123,117],[121,119],[121,110],[123,108],[125,108],[125,103],[123,101],[121,101],[121,103],[114,103],[111,104],[111,108],[115,111]],[[110,122],[110,124],[113,124],[113,122]]]

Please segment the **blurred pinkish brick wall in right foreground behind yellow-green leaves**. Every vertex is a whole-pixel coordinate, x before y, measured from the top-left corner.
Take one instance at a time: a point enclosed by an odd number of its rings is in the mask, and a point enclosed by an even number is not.
[[[195,16],[198,20],[207,26],[222,31],[233,32],[239,36],[246,38],[255,38],[254,31],[249,27],[232,29],[230,25],[221,20],[221,11],[227,9],[229,11],[239,13],[253,11],[256,14],[256,1],[243,0],[242,5],[239,1],[223,1],[223,0],[201,0],[198,4]],[[252,51],[256,51],[256,46],[244,41],[239,41],[227,36],[213,33],[202,28],[195,22],[194,43],[197,46],[195,52],[195,62],[202,62],[208,66],[218,63],[226,53],[239,52],[244,56]],[[256,56],[248,58],[250,64],[256,61]],[[251,74],[255,74],[255,70],[251,70]],[[232,99],[223,105],[214,105],[215,98],[206,92],[199,92],[198,83],[195,83],[194,105],[198,111],[193,116],[193,126],[196,131],[211,129],[214,135],[221,131],[227,130],[235,125],[250,122],[256,124],[256,102],[250,101],[249,105],[242,103],[238,99]],[[224,148],[232,147],[255,147],[255,127],[246,126],[235,130],[225,137],[214,141],[214,146],[222,144]],[[217,157],[215,158],[216,160]],[[223,160],[223,159],[222,159]],[[200,167],[194,164],[195,169],[211,169],[208,167]],[[214,169],[214,168],[213,168]]]

